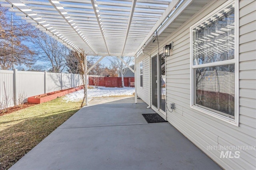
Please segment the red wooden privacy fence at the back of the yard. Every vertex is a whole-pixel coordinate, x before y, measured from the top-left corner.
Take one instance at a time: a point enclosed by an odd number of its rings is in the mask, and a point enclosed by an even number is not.
[[[89,77],[89,85],[95,86],[94,79],[95,77]],[[121,77],[100,77],[98,86],[105,87],[122,87],[122,78]],[[134,87],[134,77],[124,77],[124,86]]]

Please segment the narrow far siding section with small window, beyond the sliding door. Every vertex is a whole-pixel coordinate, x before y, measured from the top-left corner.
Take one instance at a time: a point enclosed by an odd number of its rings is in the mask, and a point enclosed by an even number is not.
[[[140,62],[143,63],[143,88],[140,87]],[[149,105],[149,98],[150,96],[148,96],[148,92],[149,92],[149,88],[150,88],[150,82],[149,82],[149,59],[148,57],[144,57],[144,59],[142,59],[142,61],[140,61],[136,64],[137,67],[137,82],[136,82],[136,86],[137,86],[137,94],[138,97],[140,97],[146,104]]]

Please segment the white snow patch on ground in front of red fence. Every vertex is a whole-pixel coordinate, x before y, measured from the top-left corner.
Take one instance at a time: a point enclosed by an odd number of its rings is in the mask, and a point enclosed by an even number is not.
[[[94,86],[93,86],[94,87]],[[88,101],[96,97],[108,97],[108,96],[128,96],[135,92],[134,88],[124,87],[124,88],[111,88],[102,87],[88,89]],[[84,90],[79,90],[64,96],[64,100],[69,101],[79,101],[84,97]]]

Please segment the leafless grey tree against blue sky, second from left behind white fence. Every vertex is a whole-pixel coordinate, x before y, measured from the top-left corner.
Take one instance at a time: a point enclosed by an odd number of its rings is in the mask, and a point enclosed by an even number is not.
[[[34,48],[38,50],[40,56],[38,60],[49,63],[49,72],[62,72],[66,67],[66,56],[70,52],[68,47],[39,29],[36,29],[35,35],[36,37],[31,41],[34,43]]]

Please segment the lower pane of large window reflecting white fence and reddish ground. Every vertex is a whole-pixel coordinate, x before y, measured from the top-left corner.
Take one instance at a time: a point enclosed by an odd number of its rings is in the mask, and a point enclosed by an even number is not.
[[[195,69],[195,105],[234,118],[234,64]]]

